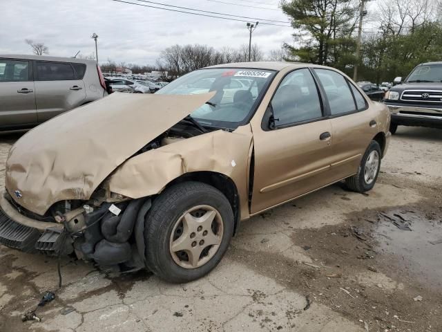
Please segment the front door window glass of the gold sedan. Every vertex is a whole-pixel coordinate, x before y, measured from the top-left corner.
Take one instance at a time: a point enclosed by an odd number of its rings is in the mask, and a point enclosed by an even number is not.
[[[271,107],[276,127],[321,118],[318,89],[310,71],[289,73],[273,95]]]

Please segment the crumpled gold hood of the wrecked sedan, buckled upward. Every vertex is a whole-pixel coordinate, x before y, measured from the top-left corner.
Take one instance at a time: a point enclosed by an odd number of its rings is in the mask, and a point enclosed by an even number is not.
[[[127,158],[212,96],[113,93],[57,116],[10,149],[6,190],[37,214],[57,201],[89,199]]]

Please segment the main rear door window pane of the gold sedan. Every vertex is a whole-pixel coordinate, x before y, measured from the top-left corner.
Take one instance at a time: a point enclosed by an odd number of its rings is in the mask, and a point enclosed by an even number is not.
[[[327,69],[316,68],[314,71],[318,74],[321,84],[323,84],[332,116],[356,110],[352,92],[343,75]]]

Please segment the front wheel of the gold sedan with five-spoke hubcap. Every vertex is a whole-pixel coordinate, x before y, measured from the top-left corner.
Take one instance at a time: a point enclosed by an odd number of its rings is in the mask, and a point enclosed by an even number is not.
[[[229,201],[211,185],[189,181],[167,188],[146,216],[146,266],[167,282],[203,277],[229,247],[233,218]],[[211,242],[216,244],[208,246]],[[180,250],[181,246],[185,249]]]

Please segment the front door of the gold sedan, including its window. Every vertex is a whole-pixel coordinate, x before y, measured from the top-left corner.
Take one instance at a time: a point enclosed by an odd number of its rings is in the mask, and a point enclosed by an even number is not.
[[[252,125],[251,214],[330,183],[332,125],[309,69],[287,74],[271,100],[273,120]]]

